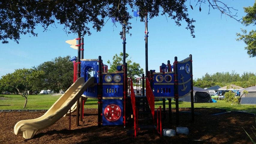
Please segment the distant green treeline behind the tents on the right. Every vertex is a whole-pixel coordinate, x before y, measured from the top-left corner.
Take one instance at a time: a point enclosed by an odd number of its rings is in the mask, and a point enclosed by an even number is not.
[[[206,73],[202,78],[197,78],[193,80],[194,86],[200,88],[209,88],[211,86],[218,85],[220,87],[233,84],[240,86],[242,88],[247,88],[256,85],[256,74],[251,72],[244,72],[242,76],[232,70],[229,72]]]

